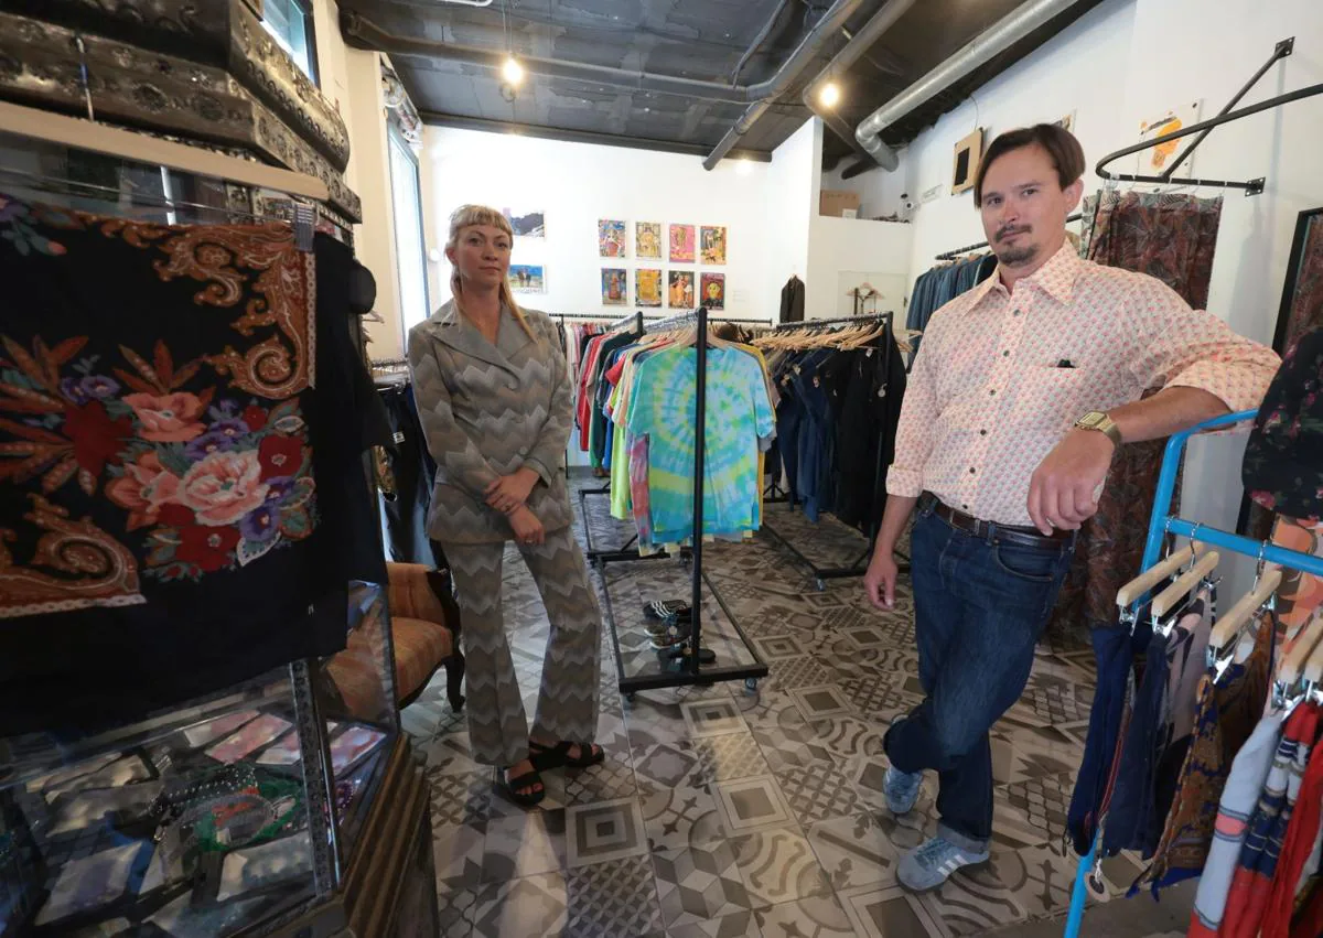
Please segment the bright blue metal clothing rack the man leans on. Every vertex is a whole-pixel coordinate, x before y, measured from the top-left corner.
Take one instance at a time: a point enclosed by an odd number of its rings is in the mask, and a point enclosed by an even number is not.
[[[1148,540],[1144,544],[1144,558],[1140,566],[1140,573],[1158,562],[1159,554],[1163,549],[1163,542],[1167,540],[1168,534],[1174,534],[1176,537],[1197,537],[1201,542],[1221,548],[1222,550],[1229,550],[1232,553],[1254,557],[1256,560],[1262,560],[1269,564],[1279,564],[1283,568],[1303,570],[1316,577],[1323,577],[1323,557],[1301,553],[1299,550],[1289,550],[1274,544],[1265,544],[1250,537],[1242,537],[1241,534],[1232,534],[1217,528],[1209,528],[1208,525],[1177,517],[1171,512],[1171,499],[1176,490],[1176,474],[1180,471],[1180,456],[1181,451],[1185,448],[1185,442],[1195,434],[1208,430],[1225,430],[1226,427],[1232,427],[1237,423],[1252,421],[1254,417],[1257,417],[1257,411],[1254,410],[1246,410],[1238,414],[1226,414],[1225,417],[1218,417],[1205,423],[1200,423],[1199,426],[1193,426],[1189,430],[1183,430],[1167,441],[1167,450],[1163,454],[1162,472],[1158,476],[1158,493],[1154,499],[1154,513],[1148,521]],[[1147,597],[1139,597],[1135,601],[1135,607],[1142,606],[1146,601]],[[1089,893],[1088,880],[1093,874],[1097,859],[1098,836],[1095,832],[1093,843],[1089,847],[1089,852],[1080,859],[1080,865],[1076,869],[1074,889],[1070,893],[1070,912],[1066,917],[1065,938],[1078,938],[1080,935],[1080,927],[1084,922],[1084,908]]]

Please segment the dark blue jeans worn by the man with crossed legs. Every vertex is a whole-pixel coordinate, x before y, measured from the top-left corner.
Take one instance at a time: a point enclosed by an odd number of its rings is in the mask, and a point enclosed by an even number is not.
[[[957,531],[925,500],[910,536],[918,673],[927,695],[886,732],[898,770],[938,773],[939,833],[982,851],[992,836],[988,730],[1029,680],[1033,647],[1074,541],[1036,549]]]

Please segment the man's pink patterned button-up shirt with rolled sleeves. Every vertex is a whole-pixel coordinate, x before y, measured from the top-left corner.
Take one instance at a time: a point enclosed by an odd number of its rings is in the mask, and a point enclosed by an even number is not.
[[[886,491],[1031,525],[1029,478],[1084,414],[1152,386],[1203,388],[1249,410],[1278,364],[1160,280],[1084,261],[1068,242],[1013,295],[998,273],[933,314]]]

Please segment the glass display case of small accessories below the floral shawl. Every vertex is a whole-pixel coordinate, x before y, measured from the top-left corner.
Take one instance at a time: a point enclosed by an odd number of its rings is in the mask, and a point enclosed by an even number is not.
[[[345,651],[86,738],[0,740],[0,935],[333,935],[400,742],[381,587]],[[397,757],[398,758],[398,757]]]

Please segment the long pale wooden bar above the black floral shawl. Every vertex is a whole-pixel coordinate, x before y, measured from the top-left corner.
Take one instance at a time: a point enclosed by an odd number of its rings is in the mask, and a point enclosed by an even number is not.
[[[255,188],[275,189],[319,202],[331,197],[327,184],[307,173],[250,163],[237,156],[213,153],[200,147],[161,140],[147,134],[135,134],[119,127],[110,127],[83,118],[69,118],[36,107],[0,102],[0,132],[90,149],[134,163],[147,163]]]

